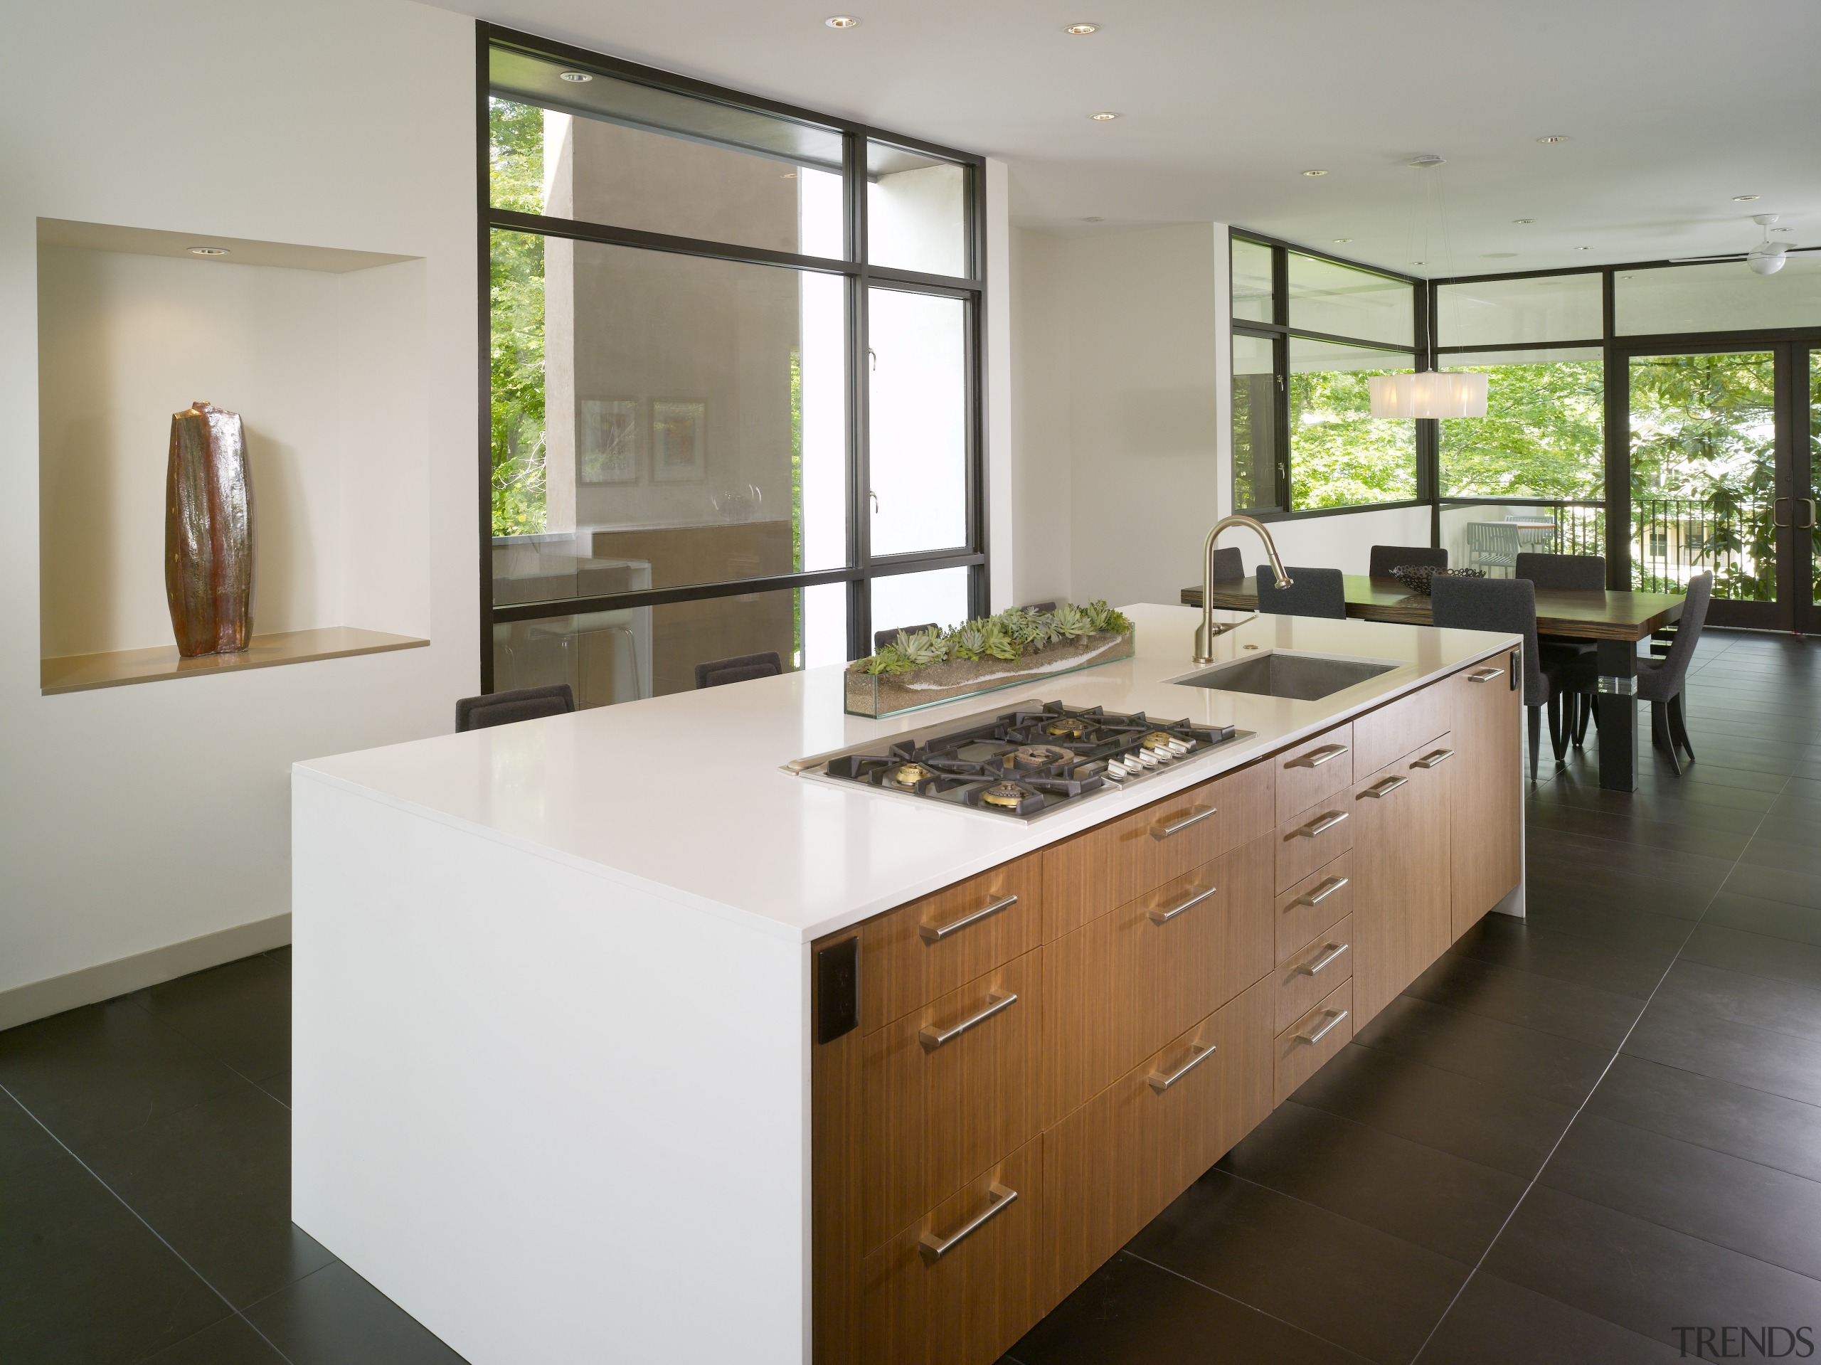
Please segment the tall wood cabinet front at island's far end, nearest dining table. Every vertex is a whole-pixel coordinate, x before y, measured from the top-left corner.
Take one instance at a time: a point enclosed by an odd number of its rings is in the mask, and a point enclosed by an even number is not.
[[[1439,682],[1455,746],[1453,937],[1524,879],[1524,693],[1515,655],[1488,659]],[[1522,684],[1519,684],[1522,686]]]

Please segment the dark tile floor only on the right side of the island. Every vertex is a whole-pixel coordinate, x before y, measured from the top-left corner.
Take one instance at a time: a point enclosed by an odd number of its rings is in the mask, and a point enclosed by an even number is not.
[[[1002,1365],[1812,1354],[1765,1329],[1821,1341],[1821,644],[1710,632],[1688,733],[1677,779],[1641,732],[1633,795],[1592,744],[1546,775],[1528,921],[1470,932]]]

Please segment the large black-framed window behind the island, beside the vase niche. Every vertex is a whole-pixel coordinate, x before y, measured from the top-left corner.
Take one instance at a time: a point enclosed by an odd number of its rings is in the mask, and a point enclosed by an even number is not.
[[[484,686],[982,613],[982,162],[503,31],[488,80]]]

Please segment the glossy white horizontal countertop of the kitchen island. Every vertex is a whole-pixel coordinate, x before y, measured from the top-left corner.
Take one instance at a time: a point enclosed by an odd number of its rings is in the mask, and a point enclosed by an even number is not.
[[[841,668],[830,666],[311,759],[293,774],[807,943],[1517,644],[1486,632],[1313,617],[1260,617],[1216,639],[1216,662],[1253,653],[1247,644],[1399,662],[1331,697],[1284,701],[1171,682],[1193,672],[1200,612],[1124,612],[1138,628],[1133,659],[889,721],[845,715]],[[1256,733],[1031,824],[781,772],[796,757],[1025,699]]]

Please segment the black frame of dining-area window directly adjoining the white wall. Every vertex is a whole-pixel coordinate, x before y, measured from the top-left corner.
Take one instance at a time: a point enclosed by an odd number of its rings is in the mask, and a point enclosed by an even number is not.
[[[1249,318],[1231,317],[1231,269],[1233,269],[1233,242],[1251,242],[1255,246],[1264,246],[1271,249],[1271,320],[1253,322]],[[1388,280],[1402,280],[1411,289],[1411,344],[1397,346],[1391,342],[1371,340],[1366,337],[1338,337],[1328,331],[1311,331],[1307,328],[1295,328],[1289,322],[1289,253],[1295,251],[1302,257],[1311,257],[1315,260],[1326,260],[1335,266],[1346,266],[1348,269],[1366,271],[1368,275],[1378,275]],[[1409,499],[1395,499],[1389,502],[1349,502],[1340,508],[1291,508],[1291,430],[1289,430],[1289,342],[1297,340],[1317,340],[1331,342],[1338,346],[1366,346],[1375,351],[1389,351],[1397,355],[1408,355],[1411,359],[1413,369],[1433,369],[1429,357],[1429,337],[1433,335],[1431,318],[1431,293],[1429,282],[1417,277],[1406,275],[1402,271],[1386,269],[1384,266],[1371,266],[1364,260],[1351,260],[1349,257],[1335,255],[1333,251],[1322,251],[1318,248],[1302,246],[1300,242],[1287,242],[1280,237],[1271,237],[1267,233],[1256,233],[1249,228],[1229,228],[1227,229],[1227,315],[1229,329],[1235,337],[1260,337],[1271,342],[1271,355],[1275,366],[1277,384],[1275,400],[1277,413],[1271,422],[1273,435],[1273,470],[1275,482],[1273,493],[1277,502],[1264,508],[1242,508],[1238,499],[1233,497],[1235,482],[1233,471],[1227,471],[1227,497],[1233,500],[1233,511],[1244,511],[1247,517],[1258,521],[1300,521],[1313,517],[1340,517],[1349,511],[1384,511],[1389,508],[1420,508],[1429,506],[1435,500],[1437,488],[1437,422],[1428,419],[1417,419],[1417,495]],[[1231,393],[1227,395],[1231,402]],[[1227,430],[1231,437],[1231,411],[1227,413]]]

